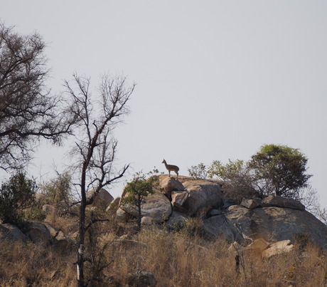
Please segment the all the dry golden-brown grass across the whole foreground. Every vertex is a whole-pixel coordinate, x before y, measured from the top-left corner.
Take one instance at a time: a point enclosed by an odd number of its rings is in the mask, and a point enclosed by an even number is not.
[[[62,229],[70,229],[67,220],[64,226],[65,220],[53,219],[52,223],[60,224]],[[201,234],[197,226],[179,232],[151,227],[136,234],[130,232],[129,240],[124,241],[119,241],[117,226],[112,222],[97,227],[92,229],[92,238],[88,240],[94,241],[98,251],[103,244],[108,246],[104,254],[93,250],[94,260],[100,259],[102,254],[105,257],[100,261],[107,260],[105,263],[109,265],[95,276],[91,286],[126,286],[136,271],[154,273],[157,286],[311,287],[327,284],[326,254],[314,246],[303,248],[298,244],[291,253],[270,259],[240,251],[237,272],[236,250],[228,251],[228,244],[223,241],[205,241],[197,235]],[[124,230],[131,229],[125,226]],[[58,253],[51,246],[1,241],[0,258],[1,286],[76,286],[74,248]],[[90,263],[87,266],[90,267]],[[88,269],[87,276],[92,272],[94,270]],[[97,281],[99,278],[103,283]]]

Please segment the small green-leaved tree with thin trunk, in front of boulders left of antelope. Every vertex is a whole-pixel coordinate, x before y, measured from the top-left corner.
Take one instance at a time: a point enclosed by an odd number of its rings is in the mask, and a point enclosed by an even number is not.
[[[149,194],[154,194],[154,185],[159,181],[159,177],[153,175],[146,179],[146,174],[138,172],[134,174],[132,182],[129,182],[124,189],[125,197],[122,204],[132,204],[137,209],[137,226],[141,229],[141,205],[146,202]]]

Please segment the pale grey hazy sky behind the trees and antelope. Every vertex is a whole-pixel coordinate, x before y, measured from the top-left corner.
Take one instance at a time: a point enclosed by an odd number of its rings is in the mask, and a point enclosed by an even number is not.
[[[132,113],[116,132],[118,163],[249,160],[274,143],[309,157],[311,183],[327,207],[327,1],[15,1],[0,19],[37,31],[48,48],[54,92],[74,72],[96,86],[128,75]],[[63,149],[41,148],[34,175]],[[118,196],[121,188],[109,192]]]

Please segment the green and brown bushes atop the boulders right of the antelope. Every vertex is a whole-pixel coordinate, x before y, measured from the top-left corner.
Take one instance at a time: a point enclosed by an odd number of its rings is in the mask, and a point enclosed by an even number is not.
[[[229,160],[226,165],[213,161],[210,177],[223,179],[223,190],[232,198],[279,195],[300,199],[311,174],[308,159],[298,149],[285,145],[263,145],[249,162]]]

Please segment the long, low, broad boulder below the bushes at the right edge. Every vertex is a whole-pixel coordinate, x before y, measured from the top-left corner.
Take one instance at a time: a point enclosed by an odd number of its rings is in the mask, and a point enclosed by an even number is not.
[[[313,244],[327,248],[327,226],[305,210],[233,205],[225,214],[205,219],[204,227],[209,237],[225,236],[231,242],[248,238],[294,242],[296,234],[310,234]]]

